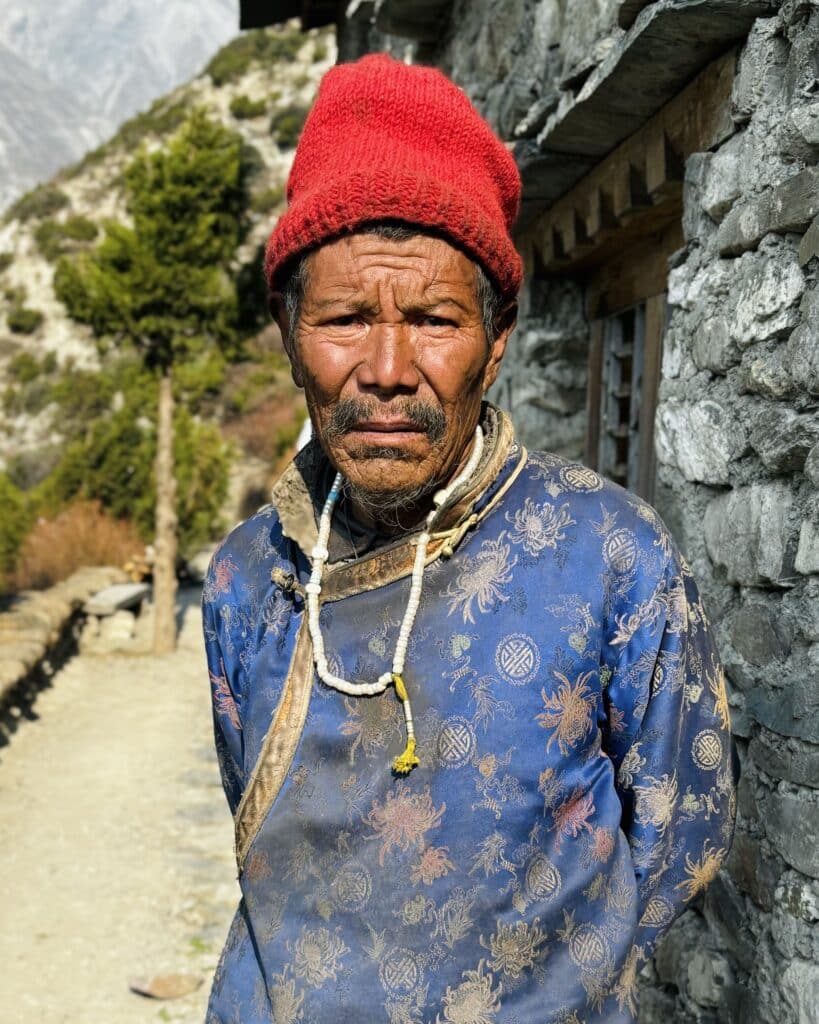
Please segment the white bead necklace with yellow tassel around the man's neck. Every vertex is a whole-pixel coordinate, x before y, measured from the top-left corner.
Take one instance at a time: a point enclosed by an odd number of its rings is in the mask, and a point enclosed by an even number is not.
[[[327,496],[325,507],[321,510],[321,517],[318,520],[318,537],[310,553],[312,561],[312,572],[310,581],[304,587],[307,595],[307,625],[310,631],[310,638],[313,643],[313,660],[315,671],[319,679],[328,686],[342,693],[351,696],[374,696],[383,693],[392,683],[395,686],[395,693],[403,706],[403,717],[406,723],[406,748],[403,754],[395,758],[393,769],[399,775],[405,775],[419,763],[416,757],[416,733],[413,726],[413,709],[410,706],[410,695],[406,692],[401,675],[406,660],[406,649],[410,644],[410,635],[416,621],[418,606],[421,603],[421,591],[424,587],[424,568],[427,557],[427,545],[432,536],[432,527],[441,511],[446,506],[451,496],[465,484],[475,473],[481,456],[483,454],[483,431],[480,426],[475,428],[475,443],[472,446],[466,466],[452,482],[441,490],[435,493],[432,499],[432,511],[426,518],[424,529],[416,542],[416,559],[413,565],[413,582],[410,588],[410,599],[406,602],[406,610],[403,613],[403,621],[398,632],[398,639],[395,641],[395,651],[392,657],[392,668],[388,672],[383,672],[374,683],[351,683],[341,676],[336,676],[330,671],[330,666],[325,651],[325,639],[321,636],[321,627],[318,622],[320,606],[318,596],[321,593],[321,577],[325,571],[325,564],[330,557],[328,544],[330,541],[330,526],[333,519],[333,510],[341,495],[341,486],[344,477],[341,473],[336,474],[333,486]]]

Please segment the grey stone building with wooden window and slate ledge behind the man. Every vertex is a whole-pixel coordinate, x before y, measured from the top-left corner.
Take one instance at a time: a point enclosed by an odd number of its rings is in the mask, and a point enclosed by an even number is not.
[[[641,1020],[815,1024],[819,4],[243,6],[442,68],[514,147],[527,273],[495,397],[659,510],[742,765],[727,869],[644,970]]]

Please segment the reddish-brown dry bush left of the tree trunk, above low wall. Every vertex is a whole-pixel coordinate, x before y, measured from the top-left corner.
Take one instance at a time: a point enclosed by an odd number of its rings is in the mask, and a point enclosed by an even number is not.
[[[55,519],[40,519],[23,542],[16,590],[51,587],[84,565],[124,565],[144,545],[134,527],[113,519],[99,502],[77,502]]]

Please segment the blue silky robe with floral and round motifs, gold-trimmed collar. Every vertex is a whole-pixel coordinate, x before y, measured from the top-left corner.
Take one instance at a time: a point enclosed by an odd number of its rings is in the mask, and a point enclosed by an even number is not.
[[[208,1024],[632,1021],[640,966],[727,853],[728,703],[685,560],[645,502],[489,416],[480,479],[429,549],[408,776],[390,768],[393,690],[314,675],[316,445],[214,556],[205,637],[243,899]],[[414,554],[402,539],[326,569],[337,674],[389,668]]]

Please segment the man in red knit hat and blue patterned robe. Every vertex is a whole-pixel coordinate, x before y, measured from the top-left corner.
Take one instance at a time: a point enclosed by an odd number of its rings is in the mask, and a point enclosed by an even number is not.
[[[326,76],[266,261],[315,437],[204,596],[243,890],[210,1024],[632,1020],[728,850],[674,540],[483,401],[519,194],[440,73]]]

